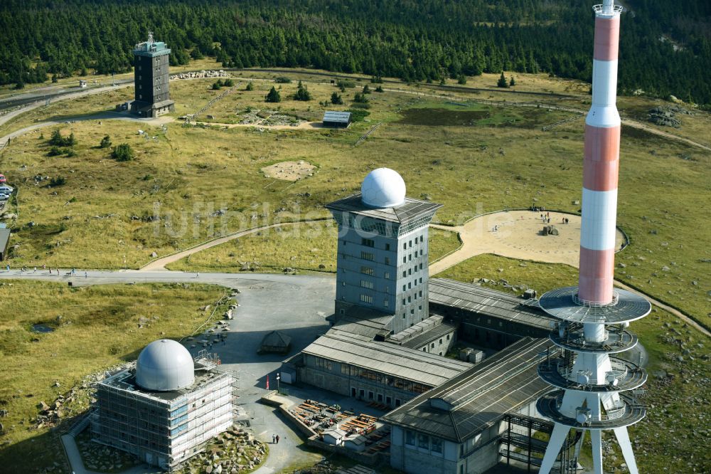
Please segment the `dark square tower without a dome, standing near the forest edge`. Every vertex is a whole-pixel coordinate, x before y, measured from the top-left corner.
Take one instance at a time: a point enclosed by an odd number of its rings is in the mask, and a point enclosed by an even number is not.
[[[158,117],[175,110],[169,86],[170,48],[163,41],[154,41],[148,33],[148,41],[138,43],[134,49],[135,100],[131,112],[141,117]]]

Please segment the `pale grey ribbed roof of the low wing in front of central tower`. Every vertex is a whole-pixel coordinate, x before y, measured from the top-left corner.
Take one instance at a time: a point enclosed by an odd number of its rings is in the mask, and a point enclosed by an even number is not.
[[[328,332],[302,352],[429,386],[443,384],[472,367],[468,362],[364,339],[342,331]]]

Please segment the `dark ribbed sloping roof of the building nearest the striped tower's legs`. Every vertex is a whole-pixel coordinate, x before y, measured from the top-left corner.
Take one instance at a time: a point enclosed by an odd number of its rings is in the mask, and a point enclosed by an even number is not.
[[[538,354],[548,339],[526,337],[417,396],[383,416],[383,421],[462,443],[504,414],[538,399],[550,386],[538,376]],[[432,400],[438,407],[435,408]]]

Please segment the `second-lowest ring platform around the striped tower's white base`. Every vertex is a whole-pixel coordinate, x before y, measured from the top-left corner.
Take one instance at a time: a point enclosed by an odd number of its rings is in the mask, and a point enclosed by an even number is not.
[[[595,384],[594,381],[590,381],[590,374],[585,374],[584,372],[574,373],[572,371],[572,363],[567,364],[562,357],[551,357],[542,360],[538,364],[538,376],[559,389],[592,392],[634,390],[647,381],[646,370],[637,364],[619,357],[610,357],[610,363],[612,370],[607,373],[607,377],[602,384]]]

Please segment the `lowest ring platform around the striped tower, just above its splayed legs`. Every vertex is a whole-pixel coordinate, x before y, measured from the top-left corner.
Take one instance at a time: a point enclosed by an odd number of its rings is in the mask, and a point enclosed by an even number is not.
[[[536,409],[545,418],[571,428],[612,429],[634,425],[646,415],[646,408],[637,404],[631,397],[620,395],[619,406],[606,410],[599,419],[589,418],[580,422],[575,417],[560,413],[560,405],[565,391],[556,390],[538,399]]]

